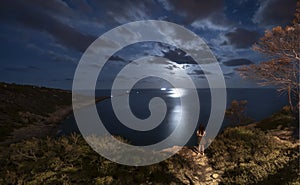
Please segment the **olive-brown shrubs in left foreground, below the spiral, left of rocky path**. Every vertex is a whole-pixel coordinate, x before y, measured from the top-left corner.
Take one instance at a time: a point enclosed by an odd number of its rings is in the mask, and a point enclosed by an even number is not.
[[[176,181],[168,168],[170,161],[145,167],[119,165],[94,152],[77,134],[60,138],[32,138],[11,144],[1,152],[0,184],[140,184],[146,181]]]

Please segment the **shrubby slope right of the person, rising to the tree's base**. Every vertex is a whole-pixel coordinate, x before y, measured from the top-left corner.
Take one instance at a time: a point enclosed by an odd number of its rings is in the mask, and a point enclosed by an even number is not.
[[[207,150],[224,184],[300,184],[298,128],[283,109],[258,123],[224,130]]]

